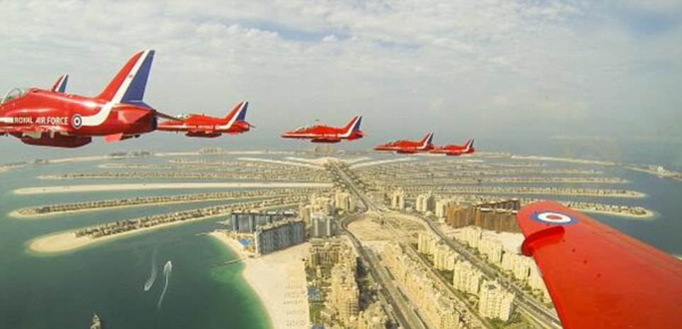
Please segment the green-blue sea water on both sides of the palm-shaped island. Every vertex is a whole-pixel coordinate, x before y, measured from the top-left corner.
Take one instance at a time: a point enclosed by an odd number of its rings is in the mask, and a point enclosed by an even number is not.
[[[96,171],[99,170],[96,166],[103,163],[106,162],[31,165],[0,174],[0,328],[87,328],[93,312],[98,313],[105,321],[106,328],[110,329],[269,328],[258,296],[241,277],[241,265],[215,266],[236,255],[211,237],[200,234],[218,227],[216,221],[220,219],[159,229],[73,253],[42,256],[28,251],[29,241],[43,234],[220,203],[126,208],[40,220],[18,220],[7,216],[12,210],[30,205],[203,192],[160,190],[41,196],[13,193],[15,189],[31,186],[139,182],[37,179],[41,174]],[[550,166],[576,167],[569,164]],[[598,200],[564,196],[557,198],[642,205],[654,210],[657,217],[653,220],[592,216],[664,251],[682,254],[682,240],[679,239],[679,232],[682,232],[682,204],[678,202],[682,196],[682,182],[620,168],[594,168],[602,170],[605,176],[617,176],[630,181],[628,184],[603,187],[634,189],[647,193],[647,197]],[[594,184],[573,186],[595,187]],[[173,270],[163,303],[158,308],[158,299],[165,283],[162,268],[166,261],[173,262]],[[158,276],[149,292],[144,292],[143,285],[149,278],[153,263]]]

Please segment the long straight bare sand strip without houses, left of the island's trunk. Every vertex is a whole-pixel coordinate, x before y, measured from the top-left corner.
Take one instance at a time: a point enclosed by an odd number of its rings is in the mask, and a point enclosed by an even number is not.
[[[45,194],[45,193],[69,193],[69,192],[106,192],[106,191],[142,191],[159,189],[287,189],[287,188],[318,188],[330,189],[330,183],[284,183],[284,182],[260,182],[260,183],[151,183],[151,184],[101,184],[101,185],[71,185],[71,186],[46,186],[28,187],[16,189],[16,194]]]

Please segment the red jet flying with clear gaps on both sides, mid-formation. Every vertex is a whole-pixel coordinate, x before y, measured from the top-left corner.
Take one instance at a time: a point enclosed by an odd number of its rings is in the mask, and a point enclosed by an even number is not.
[[[345,127],[310,126],[287,131],[282,138],[309,139],[313,143],[339,143],[342,139],[356,140],[364,137],[360,131],[362,116],[355,116]]]

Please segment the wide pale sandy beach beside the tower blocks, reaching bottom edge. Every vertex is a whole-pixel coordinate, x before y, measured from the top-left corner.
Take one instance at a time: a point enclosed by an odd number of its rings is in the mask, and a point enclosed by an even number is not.
[[[212,237],[226,247],[245,256],[241,245],[224,234],[213,232]],[[243,276],[262,301],[274,329],[310,328],[306,269],[303,258],[309,244],[257,258],[247,258]]]

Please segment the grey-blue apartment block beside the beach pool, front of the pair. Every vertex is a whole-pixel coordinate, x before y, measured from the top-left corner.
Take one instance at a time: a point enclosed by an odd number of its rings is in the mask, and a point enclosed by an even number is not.
[[[262,255],[301,244],[306,238],[304,223],[300,219],[281,220],[256,229],[255,251]]]

